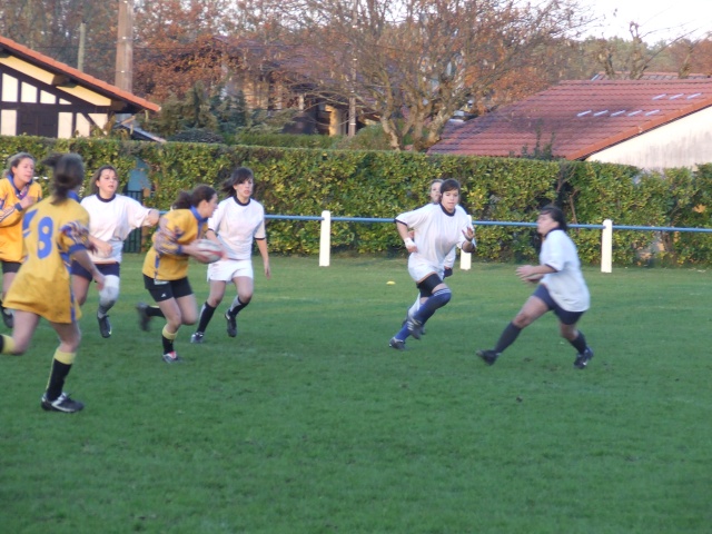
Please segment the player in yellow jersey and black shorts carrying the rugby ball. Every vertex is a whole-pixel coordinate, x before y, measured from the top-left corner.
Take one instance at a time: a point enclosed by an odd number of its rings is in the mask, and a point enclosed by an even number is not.
[[[137,308],[146,329],[149,314],[166,317],[161,333],[164,360],[180,362],[174,349],[174,340],[181,325],[195,325],[198,320],[196,296],[188,281],[190,256],[202,260],[195,241],[201,239],[208,228],[208,218],[218,206],[218,194],[210,186],[197,186],[192,191],[181,191],[174,209],[158,221],[154,245],[144,260],[144,284],[156,308],[140,303]]]

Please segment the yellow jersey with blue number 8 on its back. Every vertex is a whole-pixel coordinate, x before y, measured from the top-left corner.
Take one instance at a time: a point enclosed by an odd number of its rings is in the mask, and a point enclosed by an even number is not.
[[[73,198],[57,205],[51,204],[52,198],[24,214],[27,260],[3,306],[37,314],[52,323],[72,323],[81,317],[81,312],[71,291],[69,256],[89,245],[89,214]]]

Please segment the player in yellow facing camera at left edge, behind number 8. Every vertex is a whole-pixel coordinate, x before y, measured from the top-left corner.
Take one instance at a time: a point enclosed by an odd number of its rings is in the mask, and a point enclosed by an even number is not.
[[[2,299],[14,279],[22,259],[22,215],[42,198],[42,188],[34,178],[34,158],[19,152],[8,160],[0,180],[0,260],[2,261]],[[2,320],[12,328],[12,313],[0,304]]]

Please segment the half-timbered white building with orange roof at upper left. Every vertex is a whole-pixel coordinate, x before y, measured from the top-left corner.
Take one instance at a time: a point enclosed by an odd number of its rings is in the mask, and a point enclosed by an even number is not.
[[[160,107],[0,36],[0,135],[89,136]]]

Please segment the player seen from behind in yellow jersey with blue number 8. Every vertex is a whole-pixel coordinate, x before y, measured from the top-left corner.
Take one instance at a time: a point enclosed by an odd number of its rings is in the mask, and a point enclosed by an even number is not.
[[[78,325],[81,312],[71,291],[70,261],[78,261],[91,273],[99,289],[103,289],[103,275],[87,253],[89,214],[77,197],[85,179],[81,157],[57,155],[43,164],[55,169],[52,195],[28,209],[22,221],[27,260],[6,298],[6,306],[14,310],[14,328],[12,337],[0,336],[0,353],[23,354],[40,317],[44,317],[59,336],[59,347],[41,406],[49,412],[72,413],[83,408],[83,404],[62,390],[81,339]]]

